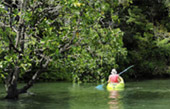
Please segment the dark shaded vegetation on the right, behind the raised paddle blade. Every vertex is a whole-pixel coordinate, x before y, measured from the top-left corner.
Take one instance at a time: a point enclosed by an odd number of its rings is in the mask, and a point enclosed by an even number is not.
[[[119,13],[131,78],[169,77],[170,13],[168,0],[133,0]],[[123,66],[123,65],[122,65]]]

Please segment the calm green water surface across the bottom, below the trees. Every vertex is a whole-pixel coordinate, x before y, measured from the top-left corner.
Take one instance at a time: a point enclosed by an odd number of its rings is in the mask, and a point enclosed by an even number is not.
[[[169,109],[170,80],[126,83],[124,91],[96,90],[96,84],[38,83],[35,95],[0,100],[0,109]],[[0,98],[5,96],[0,85]]]

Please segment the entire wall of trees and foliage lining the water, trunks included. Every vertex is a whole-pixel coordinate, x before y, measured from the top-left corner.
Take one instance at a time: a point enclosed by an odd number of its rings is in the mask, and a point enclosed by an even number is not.
[[[0,73],[8,96],[41,81],[170,75],[168,0],[2,0]],[[17,81],[27,84],[17,89]],[[13,95],[15,95],[13,94]]]

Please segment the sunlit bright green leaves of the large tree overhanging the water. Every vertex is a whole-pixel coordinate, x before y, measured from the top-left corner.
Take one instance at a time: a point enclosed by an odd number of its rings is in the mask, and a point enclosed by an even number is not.
[[[2,77],[4,69],[19,66],[20,80],[28,81],[50,60],[40,80],[105,81],[111,69],[118,67],[116,57],[127,54],[123,32],[114,26],[119,23],[114,9],[121,4],[113,0],[32,0],[27,9],[14,9],[11,15],[2,16],[1,21],[11,25],[3,27],[6,32],[0,29],[1,48],[6,47],[0,52]],[[1,8],[0,12],[5,15],[7,11]],[[16,17],[19,21],[10,23]],[[22,36],[24,45],[19,41],[16,46],[22,52],[18,53],[10,44],[17,44],[18,34],[12,27],[22,28],[21,22],[26,35]]]

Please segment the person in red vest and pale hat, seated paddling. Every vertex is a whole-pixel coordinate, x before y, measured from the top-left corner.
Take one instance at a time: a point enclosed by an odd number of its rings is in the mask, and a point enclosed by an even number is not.
[[[116,69],[112,69],[109,75],[108,83],[119,83],[121,81],[120,76],[117,74]]]

